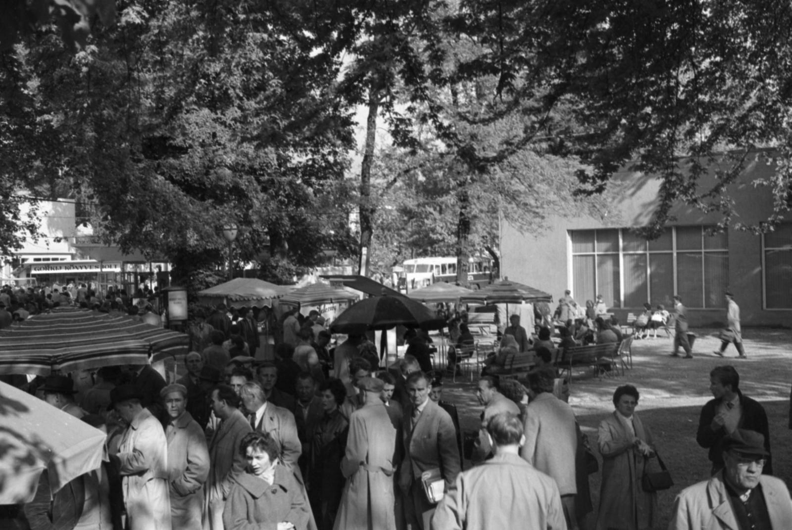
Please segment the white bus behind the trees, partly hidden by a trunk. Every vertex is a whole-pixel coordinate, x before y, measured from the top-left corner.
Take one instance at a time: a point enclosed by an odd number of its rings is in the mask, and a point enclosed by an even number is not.
[[[471,256],[467,260],[470,289],[480,289],[492,282],[492,259]],[[421,289],[436,282],[456,283],[456,258],[415,258],[404,260],[404,278],[408,290]]]

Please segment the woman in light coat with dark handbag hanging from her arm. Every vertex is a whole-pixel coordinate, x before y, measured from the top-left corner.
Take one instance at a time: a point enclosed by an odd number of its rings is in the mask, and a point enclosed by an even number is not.
[[[654,528],[657,493],[642,489],[645,465],[655,456],[649,428],[634,414],[638,389],[616,388],[613,415],[600,422],[597,445],[603,457],[597,530]]]

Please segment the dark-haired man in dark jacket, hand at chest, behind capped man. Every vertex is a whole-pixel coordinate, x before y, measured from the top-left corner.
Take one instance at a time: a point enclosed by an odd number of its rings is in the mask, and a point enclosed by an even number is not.
[[[724,467],[722,441],[737,429],[753,430],[764,437],[767,459],[762,472],[773,474],[770,456],[770,426],[762,405],[740,392],[740,374],[733,366],[716,366],[710,372],[710,392],[714,399],[704,404],[699,417],[696,441],[709,449],[714,475]]]

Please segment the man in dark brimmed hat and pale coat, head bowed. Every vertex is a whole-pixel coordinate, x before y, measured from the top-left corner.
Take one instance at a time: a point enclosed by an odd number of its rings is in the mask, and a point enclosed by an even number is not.
[[[170,530],[168,441],[131,384],[110,391],[111,407],[127,424],[112,455],[123,479],[128,530]]]

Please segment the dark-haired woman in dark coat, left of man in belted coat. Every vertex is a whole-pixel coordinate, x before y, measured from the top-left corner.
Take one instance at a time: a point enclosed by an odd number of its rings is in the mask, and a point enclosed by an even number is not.
[[[311,440],[308,496],[319,530],[332,530],[346,482],[341,474],[341,459],[349,423],[338,408],[346,399],[346,388],[341,380],[331,379],[319,385],[319,392],[325,415],[314,427]]]

